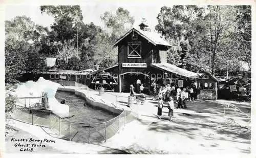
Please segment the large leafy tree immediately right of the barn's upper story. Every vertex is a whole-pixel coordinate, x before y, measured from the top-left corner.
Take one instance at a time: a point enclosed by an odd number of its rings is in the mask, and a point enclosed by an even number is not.
[[[197,27],[197,22],[202,18],[202,8],[197,6],[174,6],[162,7],[157,16],[158,24],[155,29],[160,32],[169,42],[174,45],[177,58],[175,63],[186,69],[198,68],[199,53],[197,47],[197,37],[200,35],[201,28]]]

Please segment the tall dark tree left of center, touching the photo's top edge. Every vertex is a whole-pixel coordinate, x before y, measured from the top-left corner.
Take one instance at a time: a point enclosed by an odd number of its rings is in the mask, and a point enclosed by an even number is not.
[[[60,58],[67,64],[69,58],[78,55],[76,50],[78,38],[78,23],[82,23],[80,6],[40,6],[41,13],[54,17],[54,23],[49,33],[50,42],[57,48]],[[78,56],[77,56],[78,57]]]

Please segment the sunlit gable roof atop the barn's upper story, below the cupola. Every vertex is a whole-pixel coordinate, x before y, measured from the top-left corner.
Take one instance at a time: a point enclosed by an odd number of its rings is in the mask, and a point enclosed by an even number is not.
[[[132,32],[136,32],[139,35],[141,35],[143,38],[145,38],[146,40],[150,41],[152,44],[154,44],[155,46],[157,45],[163,45],[163,46],[168,46],[170,47],[170,44],[163,38],[161,38],[161,35],[156,33],[156,32],[149,32],[149,31],[143,31],[140,29],[131,29],[130,31],[128,31],[126,34],[124,34],[122,37],[120,37],[115,43],[114,43],[114,47],[117,46],[117,44],[124,39],[127,35],[129,35]]]

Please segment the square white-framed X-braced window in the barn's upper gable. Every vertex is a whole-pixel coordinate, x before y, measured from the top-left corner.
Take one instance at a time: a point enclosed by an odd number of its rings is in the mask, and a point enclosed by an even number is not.
[[[128,58],[141,58],[141,42],[128,42]]]

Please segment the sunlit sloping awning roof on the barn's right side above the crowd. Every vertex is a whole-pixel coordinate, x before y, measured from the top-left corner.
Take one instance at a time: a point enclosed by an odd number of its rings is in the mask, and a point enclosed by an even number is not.
[[[170,73],[174,73],[177,75],[189,77],[189,78],[199,78],[200,75],[185,69],[181,69],[180,67],[177,67],[175,65],[169,64],[169,63],[152,63],[152,67],[155,67],[157,69],[160,69],[162,71],[167,71]]]

